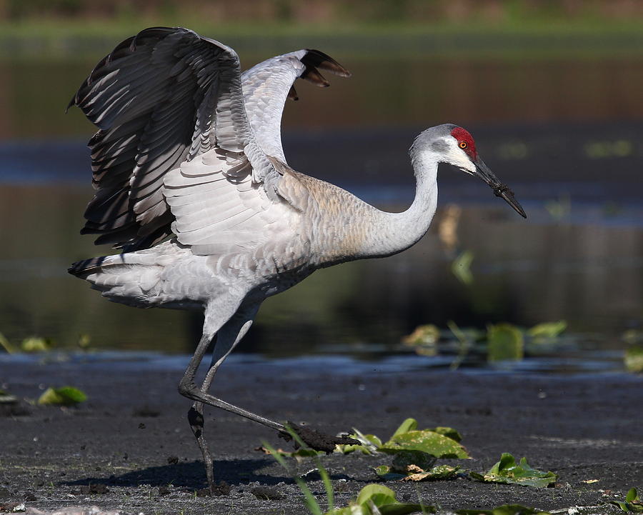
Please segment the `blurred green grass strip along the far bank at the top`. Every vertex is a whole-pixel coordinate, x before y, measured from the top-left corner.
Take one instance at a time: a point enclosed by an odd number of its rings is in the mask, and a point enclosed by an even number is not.
[[[382,56],[489,55],[511,59],[548,59],[557,55],[580,59],[643,55],[639,20],[574,19],[569,22],[533,20],[518,24],[470,22],[455,24],[400,23],[285,23],[249,21],[209,23],[193,16],[131,19],[28,19],[0,21],[2,58],[86,58],[104,53],[106,46],[136,34],[146,26],[186,26],[239,51],[280,51],[286,47],[323,46],[344,55]]]

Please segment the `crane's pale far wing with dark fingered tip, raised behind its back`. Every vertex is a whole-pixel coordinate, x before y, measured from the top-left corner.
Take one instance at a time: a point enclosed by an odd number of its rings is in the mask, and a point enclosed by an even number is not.
[[[298,78],[326,87],[328,81],[317,71],[349,77],[351,73],[331,56],[304,49],[266,59],[241,75],[246,114],[256,141],[269,156],[286,162],[281,147],[281,113],[286,98],[297,100],[293,83]]]

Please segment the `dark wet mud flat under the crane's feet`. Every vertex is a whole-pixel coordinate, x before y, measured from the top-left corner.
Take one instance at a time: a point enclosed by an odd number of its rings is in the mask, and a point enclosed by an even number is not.
[[[215,474],[229,494],[200,497],[205,486],[199,451],[186,422],[189,401],[176,393],[181,372],[131,361],[84,363],[0,361],[0,389],[35,399],[44,386],[71,384],[89,400],[76,408],[0,406],[0,505],[26,501],[52,511],[91,506],[144,514],[305,514],[299,489],[262,441],[289,449],[274,431],[223,411],[206,411],[205,432]],[[555,488],[482,484],[467,479],[420,484],[387,482],[401,501],[443,510],[524,504],[539,509],[599,506],[643,486],[643,377],[627,374],[535,375],[467,371],[382,371],[378,364],[337,373],[324,360],[302,366],[266,361],[225,364],[214,393],[277,420],[305,421],[335,433],[355,426],[388,436],[407,416],[420,426],[452,426],[486,471],[502,452],[527,456],[559,474]],[[335,501],[345,506],[387,456],[331,455]],[[456,460],[444,460],[454,462]],[[301,461],[299,473],[314,469]],[[587,484],[584,481],[598,479]],[[321,506],[324,489],[306,480]],[[258,487],[269,494],[261,496]],[[265,491],[264,491],[265,494]],[[265,497],[271,499],[265,499]]]

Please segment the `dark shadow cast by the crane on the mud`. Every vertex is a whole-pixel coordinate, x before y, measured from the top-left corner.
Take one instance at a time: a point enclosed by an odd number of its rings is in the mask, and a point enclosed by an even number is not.
[[[231,486],[249,484],[259,481],[260,484],[273,486],[281,482],[294,484],[292,477],[279,467],[276,474],[259,473],[261,469],[271,464],[271,458],[266,459],[232,459],[215,461],[214,471],[217,480],[226,481]],[[332,474],[331,479],[351,479],[346,474]],[[164,486],[171,484],[175,488],[201,489],[207,486],[205,470],[202,461],[186,461],[184,463],[149,466],[136,469],[118,476],[91,477],[87,476],[76,481],[66,481],[61,484],[69,486],[105,485],[110,486]]]

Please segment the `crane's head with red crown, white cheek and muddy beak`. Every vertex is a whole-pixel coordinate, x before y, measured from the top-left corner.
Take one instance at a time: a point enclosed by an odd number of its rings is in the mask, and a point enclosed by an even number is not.
[[[467,174],[482,179],[492,187],[496,196],[502,197],[520,216],[527,218],[522,206],[514,199],[514,192],[509,189],[509,186],[503,184],[489,170],[489,166],[480,159],[476,142],[467,129],[453,124],[439,125],[424,131],[418,139],[424,139],[423,143],[439,156],[440,162],[451,164]]]

